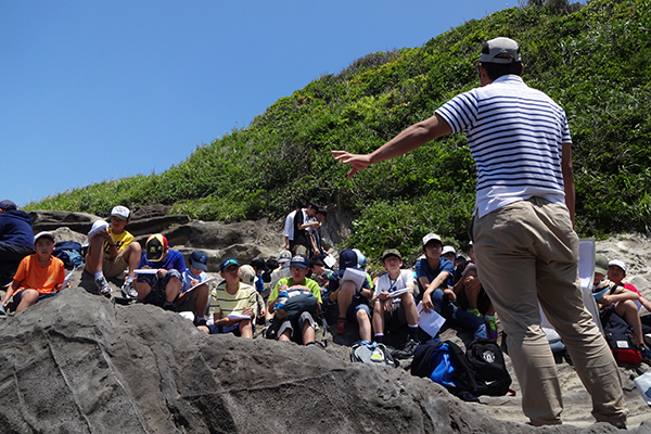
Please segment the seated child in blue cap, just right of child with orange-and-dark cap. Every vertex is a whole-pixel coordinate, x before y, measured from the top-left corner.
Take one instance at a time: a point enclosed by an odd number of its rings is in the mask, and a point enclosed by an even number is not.
[[[183,271],[181,276],[182,285],[179,297],[176,301],[177,306],[181,306],[186,301],[190,299],[194,302],[193,310],[195,314],[196,326],[206,324],[206,308],[208,307],[208,295],[209,289],[208,283],[200,284],[208,280],[208,255],[203,251],[194,251],[190,254],[190,266]],[[196,286],[199,285],[199,286]],[[191,292],[189,289],[194,288]],[[193,297],[193,299],[192,299]]]

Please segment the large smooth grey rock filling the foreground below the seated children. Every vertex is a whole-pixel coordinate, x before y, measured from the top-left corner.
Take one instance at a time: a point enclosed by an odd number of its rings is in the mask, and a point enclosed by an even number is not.
[[[528,433],[426,379],[336,348],[208,336],[180,316],[64,291],[0,324],[13,433]],[[649,432],[648,423],[631,432]],[[538,432],[539,430],[535,430]],[[570,425],[546,433],[612,433]]]

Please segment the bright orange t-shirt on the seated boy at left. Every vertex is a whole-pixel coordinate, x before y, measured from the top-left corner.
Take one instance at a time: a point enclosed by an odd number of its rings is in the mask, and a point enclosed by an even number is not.
[[[63,283],[65,279],[65,268],[63,260],[52,256],[50,261],[44,267],[38,261],[38,255],[33,254],[25,256],[18,265],[18,270],[14,276],[14,280],[20,282],[21,290],[31,289],[38,291],[39,294],[51,294],[54,286]]]

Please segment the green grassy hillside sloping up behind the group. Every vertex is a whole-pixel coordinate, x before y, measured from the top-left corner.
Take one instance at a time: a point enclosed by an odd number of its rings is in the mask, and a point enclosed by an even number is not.
[[[371,256],[385,247],[413,253],[429,231],[462,241],[475,183],[463,135],[353,180],[330,150],[369,152],[478,86],[482,42],[508,36],[522,44],[525,81],[567,113],[580,234],[644,230],[651,225],[650,10],[648,0],[595,0],[571,14],[507,9],[423,47],[369,54],[320,77],[161,175],[75,189],[27,208],[105,215],[118,203],[168,204],[193,218],[231,221],[278,218],[305,197],[353,209],[348,242]]]

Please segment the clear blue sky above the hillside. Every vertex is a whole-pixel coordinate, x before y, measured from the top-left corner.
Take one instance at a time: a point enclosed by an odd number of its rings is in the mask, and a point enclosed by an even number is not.
[[[0,1],[0,200],[161,173],[323,74],[515,0]]]

